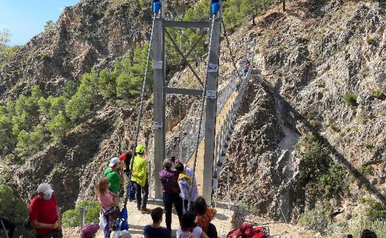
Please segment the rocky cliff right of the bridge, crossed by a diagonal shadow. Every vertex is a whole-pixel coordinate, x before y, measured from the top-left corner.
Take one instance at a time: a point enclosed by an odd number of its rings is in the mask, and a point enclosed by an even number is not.
[[[234,200],[283,221],[326,202],[336,218],[362,196],[385,203],[385,9],[301,1],[251,27],[257,65],[224,164]]]

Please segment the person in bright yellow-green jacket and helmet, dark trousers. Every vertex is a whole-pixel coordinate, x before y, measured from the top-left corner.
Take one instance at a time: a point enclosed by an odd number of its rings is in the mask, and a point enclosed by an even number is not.
[[[149,214],[151,211],[146,208],[147,197],[149,197],[149,182],[147,181],[147,161],[144,159],[145,146],[137,145],[135,148],[135,155],[131,181],[135,186],[135,200],[137,201],[137,208],[142,214]],[[141,194],[142,192],[142,194]]]

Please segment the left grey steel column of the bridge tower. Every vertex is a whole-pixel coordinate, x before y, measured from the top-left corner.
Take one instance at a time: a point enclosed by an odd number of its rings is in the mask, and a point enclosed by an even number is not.
[[[165,4],[161,3],[161,17],[156,19],[153,36],[153,93],[154,93],[154,198],[162,199],[158,172],[165,159]],[[149,175],[150,176],[150,175]]]

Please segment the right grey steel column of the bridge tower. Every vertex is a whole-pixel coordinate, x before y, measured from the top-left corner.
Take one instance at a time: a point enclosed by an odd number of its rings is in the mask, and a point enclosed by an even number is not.
[[[210,21],[211,22],[211,21]],[[218,62],[220,52],[220,18],[213,25],[212,48],[210,51],[209,72],[207,79],[207,108],[205,120],[205,151],[202,194],[207,204],[212,204],[213,160],[216,135]],[[210,32],[211,29],[209,29]]]

